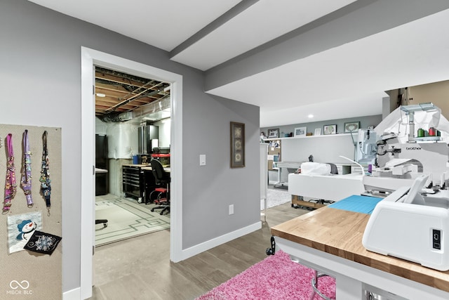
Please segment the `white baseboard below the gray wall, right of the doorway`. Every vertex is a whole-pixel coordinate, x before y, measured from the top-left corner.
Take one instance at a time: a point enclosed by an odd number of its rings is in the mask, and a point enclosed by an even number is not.
[[[183,249],[182,260],[188,259],[189,257],[195,256],[196,254],[200,254],[201,252],[205,252],[208,249],[212,249],[213,247],[220,246],[220,244],[225,244],[225,242],[234,240],[237,237],[241,237],[243,235],[247,235],[248,233],[252,233],[255,230],[259,230],[260,228],[262,228],[262,222],[258,221],[249,226],[232,231],[232,233],[227,233],[220,237],[215,237],[212,240],[208,240],[207,242],[202,242],[201,244],[196,244],[193,247]]]

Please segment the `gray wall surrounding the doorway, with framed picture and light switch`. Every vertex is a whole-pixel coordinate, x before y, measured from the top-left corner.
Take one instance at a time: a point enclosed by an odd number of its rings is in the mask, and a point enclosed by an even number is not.
[[[260,220],[258,107],[203,93],[203,73],[166,51],[25,0],[0,2],[0,28],[1,123],[62,128],[63,292],[80,286],[81,46],[182,74],[183,248]],[[243,169],[229,169],[230,121],[246,124]]]

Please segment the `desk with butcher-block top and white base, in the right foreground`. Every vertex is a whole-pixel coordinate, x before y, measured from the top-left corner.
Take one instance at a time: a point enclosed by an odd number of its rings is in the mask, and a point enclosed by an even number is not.
[[[363,299],[365,284],[410,300],[449,299],[449,271],[425,268],[363,247],[369,216],[322,207],[274,226],[272,235],[276,246],[300,263],[333,276],[337,299]]]

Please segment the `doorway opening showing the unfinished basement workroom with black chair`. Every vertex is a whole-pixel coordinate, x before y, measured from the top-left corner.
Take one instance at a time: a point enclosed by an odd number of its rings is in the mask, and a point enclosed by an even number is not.
[[[170,228],[151,166],[169,178],[170,102],[168,82],[95,66],[95,247]]]

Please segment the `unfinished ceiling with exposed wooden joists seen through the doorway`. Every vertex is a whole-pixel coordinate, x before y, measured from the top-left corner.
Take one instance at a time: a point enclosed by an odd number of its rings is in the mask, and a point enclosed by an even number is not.
[[[156,105],[159,104],[159,105]],[[120,122],[139,115],[155,121],[170,103],[170,84],[115,70],[95,67],[95,116],[106,122]],[[136,113],[138,112],[138,113]]]

